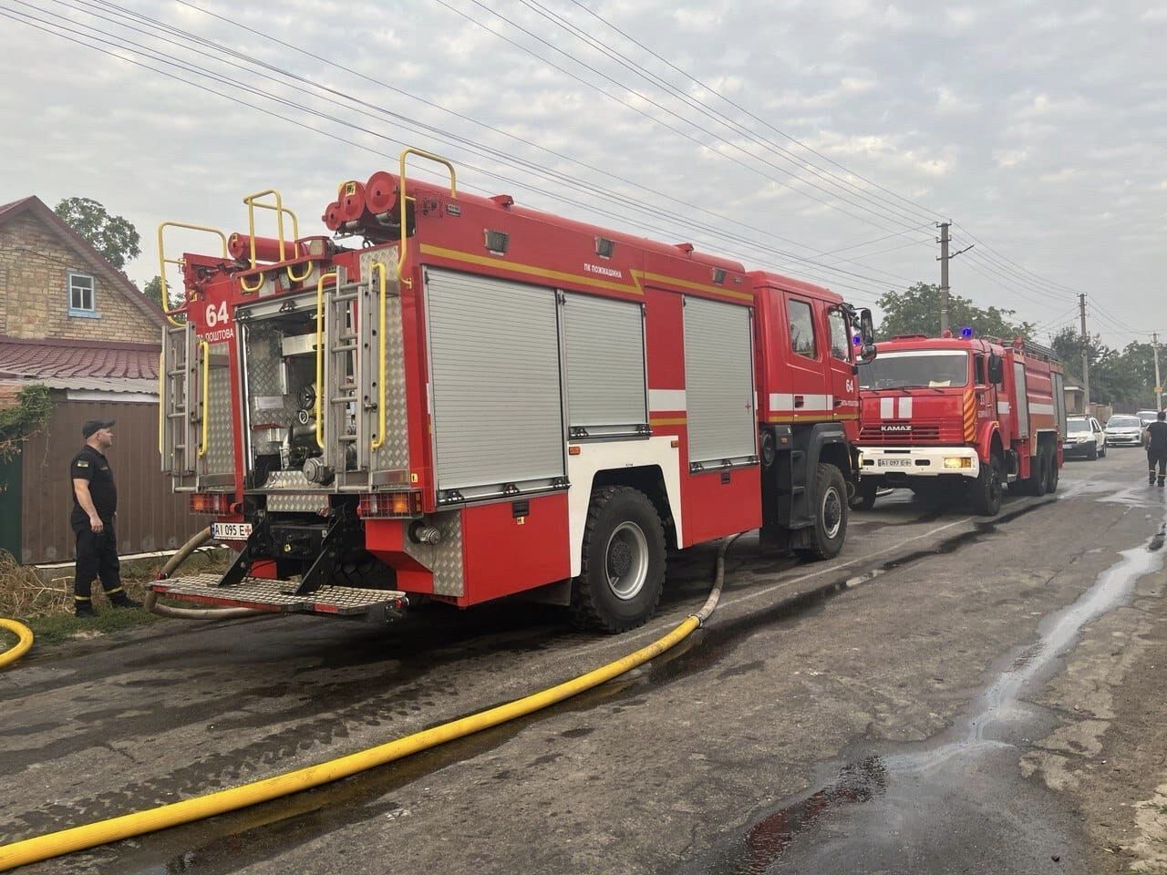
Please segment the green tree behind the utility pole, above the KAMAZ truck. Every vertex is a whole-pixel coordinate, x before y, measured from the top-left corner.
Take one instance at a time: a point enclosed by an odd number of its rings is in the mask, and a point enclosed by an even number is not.
[[[941,328],[941,289],[930,282],[917,282],[903,292],[888,292],[879,299],[883,320],[880,337],[899,334],[923,334],[935,337]],[[949,293],[949,324],[953,331],[972,328],[980,337],[1001,337],[1012,341],[1016,335],[1028,337],[1033,323],[1018,321],[1016,310],[1000,307],[977,307],[967,298]]]

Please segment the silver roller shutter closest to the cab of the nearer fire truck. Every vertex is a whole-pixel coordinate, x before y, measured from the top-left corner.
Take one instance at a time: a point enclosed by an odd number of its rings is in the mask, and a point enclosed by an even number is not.
[[[754,455],[754,368],[749,309],[685,299],[689,461]]]

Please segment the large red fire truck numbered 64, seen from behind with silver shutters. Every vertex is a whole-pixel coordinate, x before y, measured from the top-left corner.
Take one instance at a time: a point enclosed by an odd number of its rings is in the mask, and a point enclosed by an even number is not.
[[[408,154],[449,184],[406,183]],[[183,278],[162,467],[239,553],[156,592],[370,620],[526,593],[619,631],[652,615],[669,548],[841,548],[869,313],[459,192],[418,150],[343,183],[331,236],[275,191],[244,203],[246,235],[159,229]],[[176,228],[219,251],[168,258]]]

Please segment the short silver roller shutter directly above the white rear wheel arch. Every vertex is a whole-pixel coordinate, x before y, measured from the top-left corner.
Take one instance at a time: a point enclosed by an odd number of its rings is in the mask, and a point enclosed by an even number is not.
[[[564,296],[567,415],[572,426],[636,433],[648,424],[641,306],[593,295]]]

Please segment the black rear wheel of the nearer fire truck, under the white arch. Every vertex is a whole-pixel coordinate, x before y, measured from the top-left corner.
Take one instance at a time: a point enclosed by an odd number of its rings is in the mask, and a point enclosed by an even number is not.
[[[629,487],[593,492],[582,559],[572,581],[575,625],[615,634],[652,617],[664,590],[665,541],[648,496]]]

